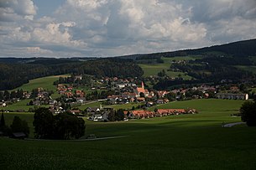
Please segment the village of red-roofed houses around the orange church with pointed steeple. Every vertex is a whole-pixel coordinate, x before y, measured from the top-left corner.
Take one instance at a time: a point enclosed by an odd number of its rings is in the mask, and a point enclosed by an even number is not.
[[[111,106],[126,105],[129,103],[138,104],[128,109],[123,109],[123,116],[121,121],[128,119],[145,119],[158,116],[171,116],[180,114],[195,114],[194,108],[186,109],[166,109],[158,110],[156,106],[167,104],[174,100],[192,100],[192,99],[227,99],[227,100],[248,100],[248,94],[243,94],[238,86],[232,85],[226,87],[226,90],[220,90],[220,85],[200,85],[191,88],[179,88],[174,90],[154,90],[146,88],[143,80],[135,79],[120,79],[113,78],[90,78],[88,88],[90,90],[83,90],[79,84],[85,79],[82,75],[76,75],[71,78],[71,83],[59,84],[57,83],[56,91],[44,90],[38,88],[35,90],[15,92],[4,92],[0,97],[2,102],[0,106],[3,110],[8,110],[8,105],[18,102],[19,100],[30,99],[27,106],[31,106],[29,111],[34,111],[34,108],[39,106],[49,106],[49,109],[54,114],[70,111],[76,116],[87,116],[89,121],[109,121],[110,112],[114,112]],[[88,77],[86,77],[88,79]],[[87,81],[87,80],[86,80]],[[75,85],[76,84],[76,85]],[[84,86],[84,85],[83,85]],[[51,95],[58,93],[59,98],[53,99]],[[7,96],[8,95],[8,96]],[[98,107],[86,107],[81,110],[79,106],[86,106],[91,102],[100,102]],[[155,111],[152,111],[152,108]],[[17,111],[24,111],[19,109]]]

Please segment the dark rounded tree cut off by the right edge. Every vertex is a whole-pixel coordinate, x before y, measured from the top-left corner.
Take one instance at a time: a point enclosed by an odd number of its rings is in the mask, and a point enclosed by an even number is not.
[[[246,101],[240,108],[242,121],[248,126],[256,126],[256,103],[255,101]]]

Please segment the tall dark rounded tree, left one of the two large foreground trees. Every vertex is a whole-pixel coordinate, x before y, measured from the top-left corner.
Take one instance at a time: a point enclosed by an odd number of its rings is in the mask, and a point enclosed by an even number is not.
[[[49,109],[41,107],[34,111],[34,133],[36,138],[50,139],[53,137],[54,116]]]

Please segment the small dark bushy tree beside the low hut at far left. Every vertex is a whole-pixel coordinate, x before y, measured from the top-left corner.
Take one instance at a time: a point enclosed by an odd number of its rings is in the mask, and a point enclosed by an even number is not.
[[[13,124],[10,126],[12,132],[24,132],[29,137],[29,126],[27,121],[22,121],[18,116],[14,116]]]

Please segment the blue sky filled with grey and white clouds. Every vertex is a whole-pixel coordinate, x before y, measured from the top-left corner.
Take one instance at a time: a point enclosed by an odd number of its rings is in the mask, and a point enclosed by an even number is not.
[[[110,57],[256,38],[256,0],[0,0],[0,57]]]

